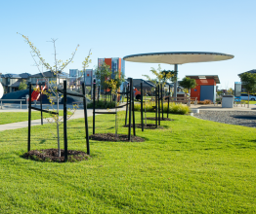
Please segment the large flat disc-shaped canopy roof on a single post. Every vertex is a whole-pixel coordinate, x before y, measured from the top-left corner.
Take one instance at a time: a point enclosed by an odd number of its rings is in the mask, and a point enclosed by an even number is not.
[[[220,61],[231,58],[234,58],[234,55],[208,52],[166,52],[132,54],[123,57],[123,59],[126,61],[166,64],[185,64],[192,62]]]

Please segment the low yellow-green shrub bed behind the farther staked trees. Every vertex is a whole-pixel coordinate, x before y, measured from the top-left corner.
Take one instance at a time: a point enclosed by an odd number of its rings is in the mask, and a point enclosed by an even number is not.
[[[147,102],[144,104],[144,109],[146,107],[146,112],[155,112],[152,106],[155,106],[155,102]],[[141,111],[141,104],[134,104],[135,111]],[[163,104],[163,112],[167,113],[168,103]],[[183,104],[177,104],[170,102],[169,113],[185,115],[190,112],[190,107]]]

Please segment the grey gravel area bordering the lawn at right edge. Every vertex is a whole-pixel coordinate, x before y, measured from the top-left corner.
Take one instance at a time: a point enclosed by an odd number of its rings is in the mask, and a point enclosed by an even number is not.
[[[256,127],[256,112],[251,111],[200,111],[193,117],[229,125]]]

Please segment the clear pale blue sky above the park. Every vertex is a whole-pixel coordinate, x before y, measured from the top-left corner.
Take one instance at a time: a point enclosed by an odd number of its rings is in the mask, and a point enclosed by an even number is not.
[[[82,68],[92,50],[98,57],[124,57],[158,52],[234,54],[219,62],[179,66],[185,75],[219,75],[221,89],[234,88],[237,74],[255,65],[255,0],[131,0],[131,1],[1,1],[0,73],[38,73],[24,34],[53,64],[51,38],[58,58],[67,59],[80,45],[69,68]],[[157,64],[126,62],[126,77],[143,78]],[[161,64],[172,70],[173,65]],[[151,76],[153,77],[153,76]]]

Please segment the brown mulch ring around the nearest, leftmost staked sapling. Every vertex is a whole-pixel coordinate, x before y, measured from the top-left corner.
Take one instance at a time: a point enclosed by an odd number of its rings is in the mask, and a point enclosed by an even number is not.
[[[48,162],[64,162],[64,150],[61,150],[61,157],[59,157],[58,149],[46,149],[46,150],[31,150],[29,153],[22,155],[24,159],[40,160]],[[81,161],[88,160],[89,156],[81,151],[68,150],[67,161]]]

